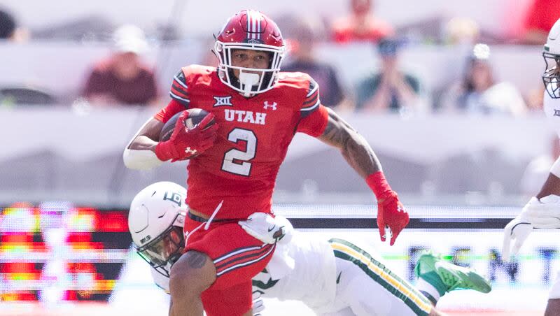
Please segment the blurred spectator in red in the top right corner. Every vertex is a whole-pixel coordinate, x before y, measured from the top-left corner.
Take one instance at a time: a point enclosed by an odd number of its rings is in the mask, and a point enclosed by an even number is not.
[[[559,18],[560,0],[533,0],[526,13],[521,43],[544,45],[548,31]]]

